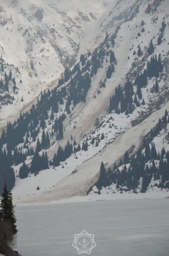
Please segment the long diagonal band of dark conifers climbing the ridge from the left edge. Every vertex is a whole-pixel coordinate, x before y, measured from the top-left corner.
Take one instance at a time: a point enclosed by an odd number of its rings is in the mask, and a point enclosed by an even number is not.
[[[115,33],[116,34],[116,33]],[[115,36],[106,34],[106,47],[109,48],[110,44],[114,46]],[[107,42],[109,40],[109,43]],[[41,92],[40,100],[36,106],[32,106],[30,111],[26,113],[20,113],[20,116],[14,124],[8,122],[7,130],[3,131],[0,138],[0,184],[3,188],[4,181],[7,183],[8,189],[12,189],[15,185],[15,175],[12,165],[17,166],[22,164],[19,170],[19,176],[25,178],[29,173],[38,174],[40,170],[48,168],[47,153],[43,152],[42,156],[39,155],[41,150],[47,150],[50,147],[50,138],[55,136],[56,140],[63,139],[63,121],[66,115],[60,114],[60,117],[55,117],[59,112],[59,105],[64,105],[66,100],[65,111],[70,114],[70,106],[73,103],[73,107],[80,101],[85,102],[85,97],[91,86],[91,78],[96,75],[98,68],[103,67],[104,59],[109,57],[110,64],[115,63],[116,59],[112,50],[96,49],[93,54],[88,53],[88,58],[91,56],[91,60],[87,60],[87,57],[81,56],[82,68],[79,64],[76,64],[73,70],[65,68],[64,78],[61,83],[70,79],[70,86],[68,89],[65,86],[61,88],[52,89],[51,91]],[[3,64],[2,64],[3,68]],[[19,71],[18,71],[19,72]],[[12,80],[12,73],[10,71],[9,76],[5,75],[6,81]],[[72,108],[73,108],[72,107]],[[49,111],[51,114],[49,116]],[[51,134],[45,133],[47,125],[52,123]],[[41,142],[39,140],[39,133],[42,132]],[[36,149],[34,150],[31,143],[36,142]],[[96,141],[96,146],[98,142]],[[87,150],[87,142],[82,145],[82,150]],[[69,148],[69,147],[68,147]],[[81,150],[80,145],[74,146],[74,153]],[[61,159],[66,159],[70,152],[64,151],[64,155]],[[68,151],[68,152],[67,152]],[[27,156],[32,157],[32,163],[28,167],[25,164]],[[56,155],[57,156],[57,155]],[[55,157],[56,159],[56,157]],[[56,162],[56,160],[54,161]],[[36,170],[35,170],[36,169]],[[2,192],[2,189],[0,193]]]

